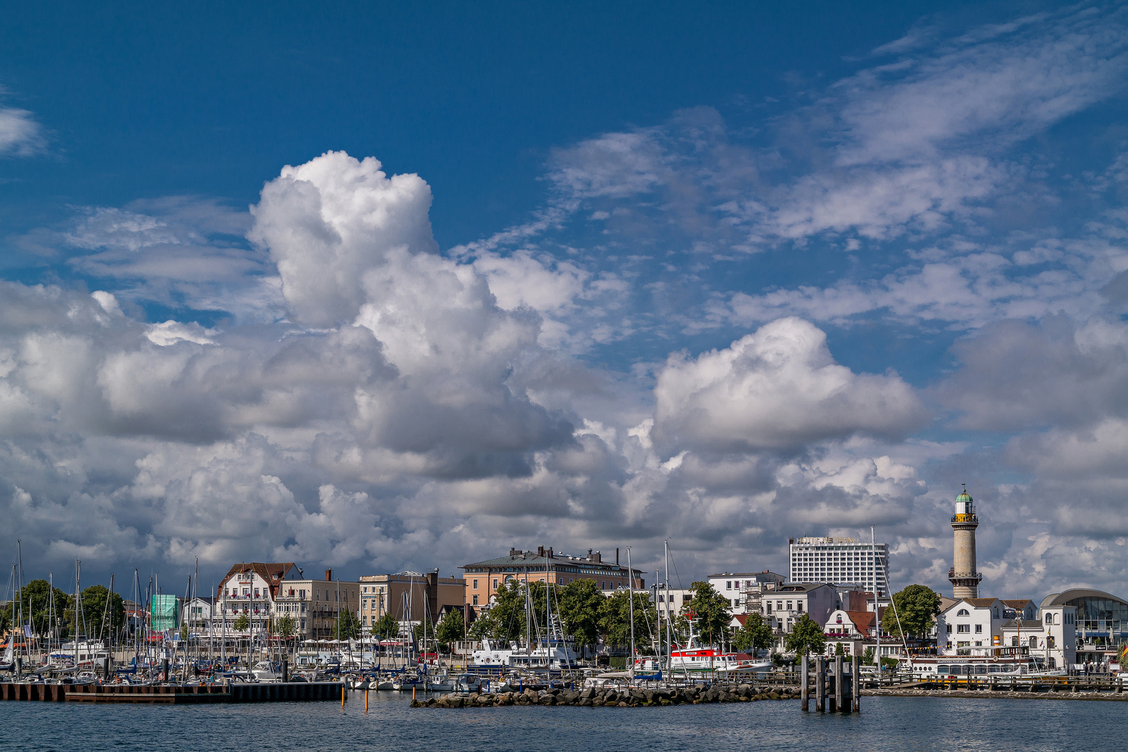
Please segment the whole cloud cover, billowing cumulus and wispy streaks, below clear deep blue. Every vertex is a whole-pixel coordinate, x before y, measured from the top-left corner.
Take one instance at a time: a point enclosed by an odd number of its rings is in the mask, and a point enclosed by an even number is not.
[[[422,177],[344,152],[249,213],[81,209],[19,242],[99,289],[0,282],[0,514],[41,568],[649,569],[672,538],[684,584],[872,524],[895,583],[944,587],[967,481],[993,594],[1118,591],[1128,162],[1054,175],[1022,140],[1122,90],[1125,25],[907,37],[772,143],[710,107],[596,134],[528,223],[447,253]]]

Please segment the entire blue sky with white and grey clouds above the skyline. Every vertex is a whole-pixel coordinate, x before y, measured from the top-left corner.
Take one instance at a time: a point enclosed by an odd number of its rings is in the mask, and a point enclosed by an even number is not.
[[[26,578],[510,547],[1128,595],[1128,6],[24,3]]]

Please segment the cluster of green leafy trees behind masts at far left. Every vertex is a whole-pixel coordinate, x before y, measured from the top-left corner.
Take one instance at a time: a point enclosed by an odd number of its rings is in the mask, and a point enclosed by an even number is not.
[[[125,603],[122,596],[111,594],[109,589],[104,585],[90,585],[79,593],[76,602],[73,594],[58,587],[52,589],[46,580],[33,580],[20,590],[19,599],[7,604],[0,613],[0,627],[3,629],[12,626],[12,605],[16,619],[19,619],[23,610],[24,622],[30,622],[35,635],[53,634],[69,639],[76,634],[76,625],[81,622],[77,630],[79,634],[91,638],[108,637],[112,631],[125,625]]]

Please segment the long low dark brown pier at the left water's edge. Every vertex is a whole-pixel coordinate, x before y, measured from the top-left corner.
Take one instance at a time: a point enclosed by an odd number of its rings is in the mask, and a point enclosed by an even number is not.
[[[0,684],[0,700],[41,702],[308,702],[342,700],[341,682],[262,684]]]

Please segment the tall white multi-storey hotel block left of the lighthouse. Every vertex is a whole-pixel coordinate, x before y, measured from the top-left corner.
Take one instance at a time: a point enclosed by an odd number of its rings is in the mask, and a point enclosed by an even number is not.
[[[873,546],[856,538],[791,538],[787,549],[790,582],[856,585],[882,598],[888,595],[888,543]]]

